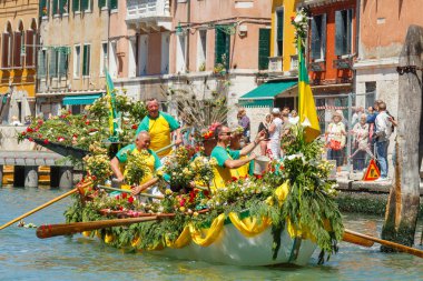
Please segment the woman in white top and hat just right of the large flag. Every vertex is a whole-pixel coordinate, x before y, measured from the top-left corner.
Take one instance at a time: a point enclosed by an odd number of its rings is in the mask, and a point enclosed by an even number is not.
[[[345,124],[342,122],[343,116],[340,112],[332,114],[332,122],[326,130],[327,159],[336,160],[340,168],[344,162],[344,147],[346,142]]]

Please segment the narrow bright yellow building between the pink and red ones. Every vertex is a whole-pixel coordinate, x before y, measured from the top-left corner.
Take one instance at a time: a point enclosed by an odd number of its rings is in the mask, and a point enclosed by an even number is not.
[[[269,71],[296,74],[297,56],[295,29],[291,24],[296,16],[298,0],[273,0]],[[287,72],[289,71],[289,72]]]

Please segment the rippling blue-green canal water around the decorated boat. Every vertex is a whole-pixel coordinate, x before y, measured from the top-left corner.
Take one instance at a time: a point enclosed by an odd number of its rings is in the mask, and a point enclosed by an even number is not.
[[[67,190],[0,188],[0,224],[65,193]],[[24,219],[26,223],[61,223],[70,199]],[[382,218],[346,214],[351,230],[377,235]],[[419,223],[416,241],[420,241]],[[422,247],[420,247],[422,249]],[[230,267],[180,261],[148,253],[124,253],[81,235],[40,240],[36,229],[10,225],[0,231],[0,280],[422,280],[423,260],[378,252],[342,242],[323,265],[316,259],[303,268]]]

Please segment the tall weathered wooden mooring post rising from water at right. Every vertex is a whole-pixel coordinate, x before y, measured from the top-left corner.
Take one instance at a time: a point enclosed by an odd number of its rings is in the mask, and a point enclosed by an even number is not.
[[[395,179],[386,205],[382,238],[413,245],[420,203],[423,28],[410,26],[400,54],[399,127],[394,143]],[[420,132],[420,133],[416,133]],[[382,251],[391,249],[382,247]]]

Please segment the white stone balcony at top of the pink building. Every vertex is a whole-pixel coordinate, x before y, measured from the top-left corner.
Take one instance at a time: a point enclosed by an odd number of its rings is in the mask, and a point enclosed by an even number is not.
[[[127,0],[126,21],[145,31],[171,29],[169,0]]]

